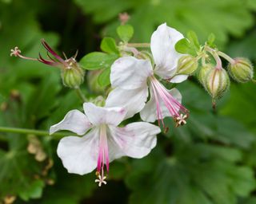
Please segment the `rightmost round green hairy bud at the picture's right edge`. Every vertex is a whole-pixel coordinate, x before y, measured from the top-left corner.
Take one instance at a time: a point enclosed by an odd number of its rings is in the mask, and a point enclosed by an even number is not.
[[[250,81],[254,77],[253,65],[246,58],[235,58],[234,63],[230,63],[227,68],[230,76],[240,83]]]

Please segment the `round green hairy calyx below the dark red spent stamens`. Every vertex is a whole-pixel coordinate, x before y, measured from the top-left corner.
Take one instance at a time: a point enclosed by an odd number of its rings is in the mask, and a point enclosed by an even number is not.
[[[84,80],[85,71],[75,62],[69,69],[62,69],[63,84],[69,88],[78,88]]]

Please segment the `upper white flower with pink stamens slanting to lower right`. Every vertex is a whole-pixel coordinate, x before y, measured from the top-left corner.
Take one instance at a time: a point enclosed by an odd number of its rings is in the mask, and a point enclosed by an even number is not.
[[[107,97],[106,107],[125,107],[128,111],[126,118],[140,112],[142,120],[148,122],[158,120],[160,123],[164,117],[173,116],[178,123],[182,118],[180,112],[187,116],[187,109],[180,104],[180,92],[176,88],[167,90],[156,77],[171,78],[170,82],[175,83],[186,80],[185,75],[174,77],[178,59],[183,56],[176,52],[174,46],[182,38],[182,33],[164,23],[158,26],[151,37],[154,67],[149,60],[139,60],[135,57],[121,57],[115,61],[110,73],[110,81],[115,89]],[[149,89],[150,100],[146,103]]]

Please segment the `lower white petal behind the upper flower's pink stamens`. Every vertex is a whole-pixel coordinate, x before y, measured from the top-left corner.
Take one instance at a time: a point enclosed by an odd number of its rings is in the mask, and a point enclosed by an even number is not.
[[[178,91],[178,89],[172,88],[168,92],[170,92],[171,96],[174,96],[174,98],[178,100],[179,103],[182,102],[182,95]],[[162,118],[171,116],[168,108],[166,108],[166,104],[163,102],[161,98],[159,98],[159,104],[161,108]],[[146,103],[145,107],[140,112],[140,116],[142,120],[150,123],[153,123],[155,120],[158,120],[157,104],[151,88],[150,88],[150,100]]]

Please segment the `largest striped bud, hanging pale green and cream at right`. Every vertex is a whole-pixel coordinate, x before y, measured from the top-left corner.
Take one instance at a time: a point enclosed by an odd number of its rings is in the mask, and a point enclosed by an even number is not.
[[[230,86],[230,78],[225,69],[210,69],[206,73],[204,87],[213,99],[221,98]]]

